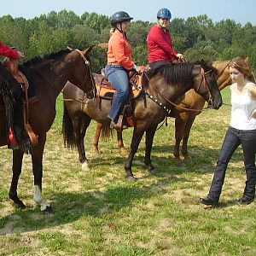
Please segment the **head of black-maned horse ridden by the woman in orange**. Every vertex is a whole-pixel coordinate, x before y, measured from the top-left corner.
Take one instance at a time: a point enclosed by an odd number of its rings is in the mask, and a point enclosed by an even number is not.
[[[218,109],[222,105],[222,97],[218,90],[218,72],[206,61],[195,62],[192,68],[194,89],[209,104],[211,108]]]

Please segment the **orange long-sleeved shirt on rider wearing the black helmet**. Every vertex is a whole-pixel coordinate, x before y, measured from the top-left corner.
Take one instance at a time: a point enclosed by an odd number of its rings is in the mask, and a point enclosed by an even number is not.
[[[131,45],[121,32],[113,32],[108,41],[108,63],[119,63],[119,65],[130,70],[134,67],[131,60]]]

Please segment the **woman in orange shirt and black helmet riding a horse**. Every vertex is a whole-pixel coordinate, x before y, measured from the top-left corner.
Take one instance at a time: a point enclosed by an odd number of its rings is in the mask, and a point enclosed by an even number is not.
[[[108,118],[111,119],[110,128],[119,129],[117,126],[119,115],[125,107],[129,94],[129,71],[132,69],[137,70],[137,65],[131,58],[131,45],[126,38],[126,32],[132,19],[124,11],[114,13],[110,19],[113,29],[108,41],[108,64],[105,70],[108,80],[116,89],[116,94],[113,96],[112,106],[108,113]],[[125,128],[123,126],[123,129]]]

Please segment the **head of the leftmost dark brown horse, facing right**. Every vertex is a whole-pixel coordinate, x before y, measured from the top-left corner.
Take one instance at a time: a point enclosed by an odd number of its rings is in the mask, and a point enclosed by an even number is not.
[[[68,80],[83,90],[88,98],[96,96],[96,84],[92,77],[89,57],[92,48],[93,46],[84,50],[73,49],[68,55],[69,63],[74,64],[72,76]]]

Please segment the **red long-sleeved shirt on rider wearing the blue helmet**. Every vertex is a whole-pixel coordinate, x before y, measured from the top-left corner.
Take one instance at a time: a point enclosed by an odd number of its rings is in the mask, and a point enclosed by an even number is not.
[[[172,48],[172,36],[157,25],[148,32],[148,63],[154,61],[174,61],[177,51]]]

